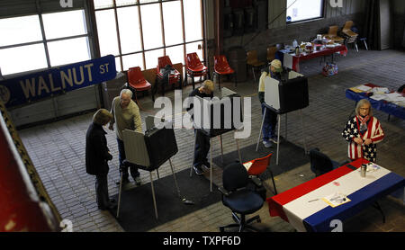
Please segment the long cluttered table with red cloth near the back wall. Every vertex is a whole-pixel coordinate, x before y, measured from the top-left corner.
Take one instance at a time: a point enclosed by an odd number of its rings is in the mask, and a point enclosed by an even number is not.
[[[302,53],[296,56],[293,53],[288,53],[287,50],[282,49],[277,52],[277,58],[283,61],[284,67],[293,69],[293,71],[300,72],[300,62],[303,60],[309,60],[311,58],[320,58],[332,55],[332,63],[334,61],[334,54],[340,53],[342,56],[347,55],[347,47],[345,45],[339,45],[335,48],[325,48],[311,53]]]

